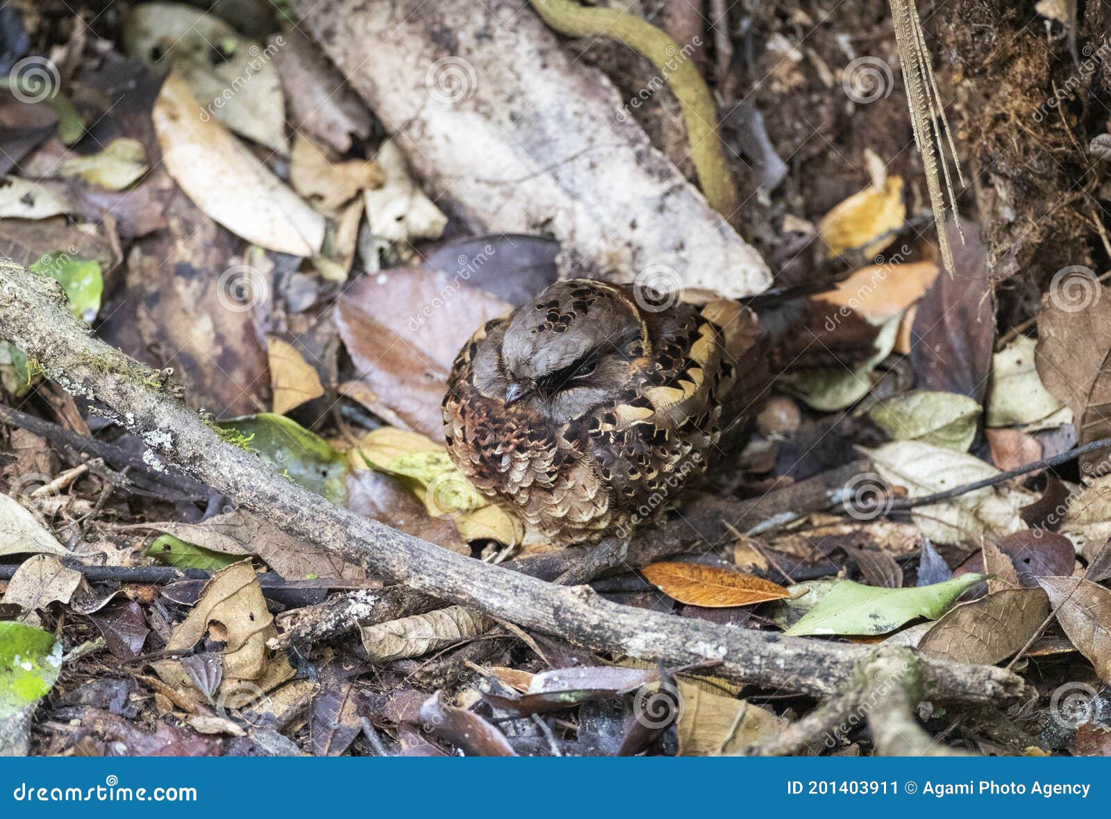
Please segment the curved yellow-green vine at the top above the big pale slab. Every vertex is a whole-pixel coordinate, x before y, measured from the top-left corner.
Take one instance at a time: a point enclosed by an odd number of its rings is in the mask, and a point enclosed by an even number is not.
[[[679,100],[690,156],[710,206],[731,218],[739,205],[733,174],[718,134],[718,112],[705,80],[689,59],[677,61],[675,41],[651,23],[618,9],[590,8],[578,0],[531,0],[548,26],[568,37],[608,37],[649,60]]]

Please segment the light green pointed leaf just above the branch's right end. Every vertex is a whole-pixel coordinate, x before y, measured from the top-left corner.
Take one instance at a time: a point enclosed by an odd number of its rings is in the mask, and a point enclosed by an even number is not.
[[[918,588],[879,588],[842,580],[784,634],[877,635],[893,631],[917,617],[935,620],[967,588],[983,579],[983,575],[970,573]]]

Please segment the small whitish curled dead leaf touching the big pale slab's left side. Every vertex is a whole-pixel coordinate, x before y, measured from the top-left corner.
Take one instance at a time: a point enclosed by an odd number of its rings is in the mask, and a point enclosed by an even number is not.
[[[401,149],[389,140],[374,159],[386,174],[384,184],[363,193],[367,222],[374,239],[392,244],[439,237],[448,218],[413,182]]]

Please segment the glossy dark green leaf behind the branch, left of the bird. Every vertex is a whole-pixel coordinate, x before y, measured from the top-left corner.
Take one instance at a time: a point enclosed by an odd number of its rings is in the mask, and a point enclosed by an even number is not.
[[[217,425],[238,434],[239,445],[257,451],[262,459],[294,484],[323,495],[333,504],[347,499],[348,461],[322,437],[291,418],[259,413]]]

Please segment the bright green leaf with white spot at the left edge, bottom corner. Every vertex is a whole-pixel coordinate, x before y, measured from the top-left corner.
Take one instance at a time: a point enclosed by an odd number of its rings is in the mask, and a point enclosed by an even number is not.
[[[49,631],[0,621],[0,721],[42,699],[61,667],[62,644]]]

